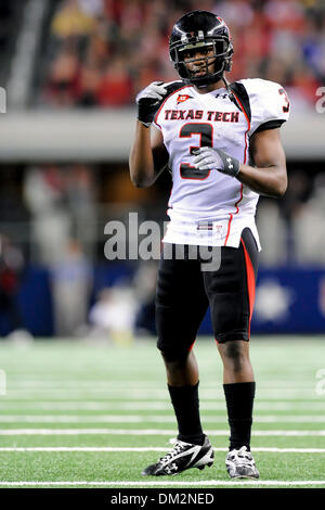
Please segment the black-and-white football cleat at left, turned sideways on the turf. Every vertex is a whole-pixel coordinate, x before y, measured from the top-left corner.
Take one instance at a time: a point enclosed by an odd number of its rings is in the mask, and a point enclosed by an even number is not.
[[[198,468],[202,470],[206,466],[212,466],[214,452],[207,436],[202,446],[180,439],[170,439],[170,443],[174,445],[172,450],[161,457],[157,463],[143,470],[141,473],[143,476],[178,474],[186,469]]]

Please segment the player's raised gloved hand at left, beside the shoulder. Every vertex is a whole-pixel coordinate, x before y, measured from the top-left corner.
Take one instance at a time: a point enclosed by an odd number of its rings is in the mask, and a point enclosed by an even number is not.
[[[153,81],[135,98],[138,119],[148,127],[168,91],[164,81]]]

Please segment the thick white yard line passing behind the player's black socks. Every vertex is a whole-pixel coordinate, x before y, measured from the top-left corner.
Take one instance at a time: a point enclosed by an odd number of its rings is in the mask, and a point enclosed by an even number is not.
[[[224,423],[226,417],[205,416],[205,423]],[[139,416],[139,415],[2,415],[0,423],[174,423],[170,416]],[[255,416],[255,423],[325,423],[325,416]]]

